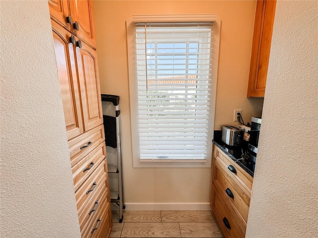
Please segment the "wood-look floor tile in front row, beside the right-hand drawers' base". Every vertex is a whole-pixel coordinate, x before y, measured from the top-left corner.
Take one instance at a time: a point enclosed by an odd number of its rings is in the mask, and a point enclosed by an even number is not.
[[[222,231],[215,222],[179,223],[182,238],[220,238]]]

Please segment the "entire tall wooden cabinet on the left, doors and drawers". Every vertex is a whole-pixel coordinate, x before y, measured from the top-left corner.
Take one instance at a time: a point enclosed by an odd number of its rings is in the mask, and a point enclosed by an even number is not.
[[[91,6],[49,0],[81,237],[107,238],[112,215]]]

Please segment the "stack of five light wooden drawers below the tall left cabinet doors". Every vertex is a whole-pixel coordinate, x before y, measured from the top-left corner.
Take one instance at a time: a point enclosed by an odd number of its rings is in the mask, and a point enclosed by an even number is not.
[[[107,238],[112,227],[103,126],[69,141],[82,238]]]

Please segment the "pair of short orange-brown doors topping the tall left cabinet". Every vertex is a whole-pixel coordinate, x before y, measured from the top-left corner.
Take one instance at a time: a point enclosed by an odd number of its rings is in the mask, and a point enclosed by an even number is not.
[[[91,0],[49,0],[51,18],[96,49]]]

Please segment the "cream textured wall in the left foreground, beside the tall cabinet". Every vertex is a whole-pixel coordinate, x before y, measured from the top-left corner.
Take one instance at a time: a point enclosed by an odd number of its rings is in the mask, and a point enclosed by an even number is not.
[[[3,238],[79,238],[47,1],[0,1]]]

